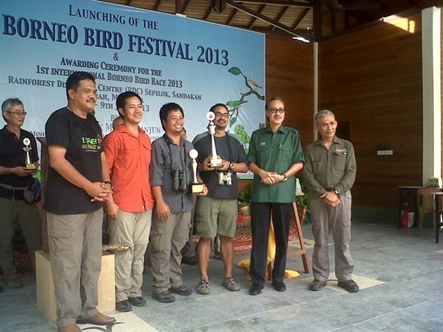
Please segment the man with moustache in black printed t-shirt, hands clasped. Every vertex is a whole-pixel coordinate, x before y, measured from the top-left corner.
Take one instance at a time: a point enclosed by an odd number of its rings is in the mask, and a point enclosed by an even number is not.
[[[97,311],[102,257],[102,202],[111,193],[102,131],[91,114],[97,89],[90,73],[66,80],[68,106],[46,122],[49,168],[44,209],[60,332],[77,324],[112,324]]]

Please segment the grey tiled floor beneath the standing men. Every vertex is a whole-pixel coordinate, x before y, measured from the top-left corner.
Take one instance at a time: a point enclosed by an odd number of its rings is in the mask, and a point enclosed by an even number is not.
[[[303,229],[310,259],[311,229],[309,225]],[[300,277],[286,280],[284,293],[266,284],[261,295],[248,295],[249,282],[242,268],[234,268],[242,290],[230,293],[221,286],[222,262],[211,259],[210,295],[177,295],[172,304],[157,302],[150,297],[147,272],[143,286],[147,306],[134,308],[132,313],[110,313],[119,324],[106,329],[81,327],[83,331],[114,332],[443,331],[443,243],[435,243],[432,230],[418,237],[416,229],[354,222],[352,232],[359,293],[347,293],[334,281],[322,291],[309,291],[312,277],[302,272],[300,257],[291,255],[293,243],[288,268],[298,270]],[[237,252],[235,261],[247,257],[248,252]],[[332,267],[333,260],[332,256]],[[183,275],[189,286],[197,285],[197,266],[183,266]],[[25,288],[5,289],[0,294],[0,331],[55,331],[55,324],[37,308],[33,279],[26,281]]]

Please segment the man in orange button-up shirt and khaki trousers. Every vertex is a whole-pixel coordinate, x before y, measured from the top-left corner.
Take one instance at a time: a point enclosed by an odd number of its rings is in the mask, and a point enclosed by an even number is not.
[[[116,251],[116,309],[144,306],[141,296],[144,254],[150,237],[154,199],[150,187],[151,139],[138,124],[143,101],[132,91],[120,93],[117,109],[125,121],[105,137],[105,155],[114,192],[106,203],[109,243],[129,246]]]

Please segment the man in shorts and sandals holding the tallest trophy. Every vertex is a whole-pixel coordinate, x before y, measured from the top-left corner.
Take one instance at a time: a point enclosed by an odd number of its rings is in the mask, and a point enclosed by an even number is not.
[[[210,293],[208,262],[210,243],[217,234],[221,242],[221,257],[224,264],[222,285],[228,291],[239,291],[240,285],[233,278],[233,237],[237,227],[237,172],[248,172],[248,158],[242,143],[226,133],[229,111],[224,104],[210,108],[215,113],[215,145],[222,160],[221,168],[211,166],[211,137],[206,133],[198,135],[193,144],[199,156],[200,176],[208,187],[208,196],[199,196],[195,205],[195,227],[199,235],[197,257],[200,268],[200,282],[197,293]]]

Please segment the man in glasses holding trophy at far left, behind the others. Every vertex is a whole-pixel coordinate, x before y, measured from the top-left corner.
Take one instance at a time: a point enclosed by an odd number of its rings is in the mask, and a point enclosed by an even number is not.
[[[23,102],[17,98],[7,99],[1,105],[1,112],[6,126],[0,130],[0,266],[8,288],[21,288],[23,283],[12,260],[15,224],[19,223],[24,234],[33,268],[35,250],[42,247],[42,220],[35,204],[24,199],[24,189],[33,183],[37,172],[25,167],[24,140],[30,141],[30,161],[36,168],[39,158],[35,137],[21,129],[26,116]]]

